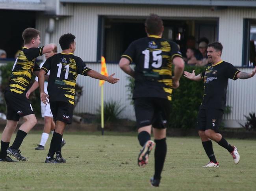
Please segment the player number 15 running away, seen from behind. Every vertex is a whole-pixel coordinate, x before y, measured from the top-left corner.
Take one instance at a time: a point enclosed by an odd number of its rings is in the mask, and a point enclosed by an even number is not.
[[[148,155],[155,148],[155,173],[152,186],[159,186],[167,152],[166,127],[171,111],[173,88],[179,87],[184,61],[175,42],[165,40],[163,21],[158,15],[150,15],[145,22],[147,37],[135,40],[121,56],[119,65],[135,78],[134,107],[138,127],[139,144],[143,147],[138,165],[148,163]],[[135,63],[135,69],[130,64]],[[174,76],[172,67],[174,65]],[[153,127],[153,128],[152,128]],[[153,129],[154,141],[150,140]]]

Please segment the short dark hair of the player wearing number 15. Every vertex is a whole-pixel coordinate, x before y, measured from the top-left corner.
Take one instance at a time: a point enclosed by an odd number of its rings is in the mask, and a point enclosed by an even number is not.
[[[146,19],[145,27],[150,35],[160,35],[163,27],[163,20],[156,14],[150,14]]]

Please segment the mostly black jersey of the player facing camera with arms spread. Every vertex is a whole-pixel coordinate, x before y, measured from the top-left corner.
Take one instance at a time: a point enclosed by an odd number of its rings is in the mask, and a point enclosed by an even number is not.
[[[200,109],[224,109],[228,79],[236,80],[239,70],[234,65],[220,62],[208,65],[201,73],[204,80],[204,96]]]

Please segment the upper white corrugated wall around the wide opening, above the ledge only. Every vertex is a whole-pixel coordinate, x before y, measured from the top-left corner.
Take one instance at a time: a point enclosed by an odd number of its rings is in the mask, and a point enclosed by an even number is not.
[[[242,60],[243,19],[256,18],[255,8],[242,7],[211,11],[210,7],[74,4],[71,8],[74,9],[73,16],[59,17],[56,22],[52,42],[58,42],[59,36],[64,33],[74,33],[77,39],[76,55],[88,62],[96,61],[98,15],[145,17],[156,13],[174,19],[219,18],[219,41],[224,46],[223,59],[237,66],[241,65]],[[37,29],[45,30],[44,22],[48,20],[39,16]]]

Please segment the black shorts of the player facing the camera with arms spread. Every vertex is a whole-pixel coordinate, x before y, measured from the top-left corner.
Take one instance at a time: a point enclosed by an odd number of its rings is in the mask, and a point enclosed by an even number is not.
[[[212,129],[219,133],[219,126],[223,116],[222,109],[199,109],[197,118],[197,128],[200,131]]]

